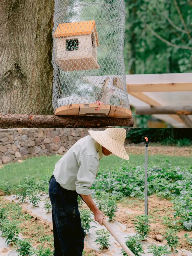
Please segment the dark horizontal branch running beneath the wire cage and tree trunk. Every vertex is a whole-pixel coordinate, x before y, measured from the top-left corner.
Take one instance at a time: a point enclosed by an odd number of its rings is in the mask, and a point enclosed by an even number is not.
[[[0,127],[14,128],[103,128],[106,126],[133,127],[133,118],[114,118],[98,116],[40,116],[33,114],[1,114]]]

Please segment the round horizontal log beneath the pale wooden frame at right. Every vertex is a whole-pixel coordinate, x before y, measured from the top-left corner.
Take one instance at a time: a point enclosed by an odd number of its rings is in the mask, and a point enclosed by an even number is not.
[[[136,107],[138,115],[156,115],[156,114],[177,114],[177,115],[192,115],[192,106],[154,106],[154,107]]]

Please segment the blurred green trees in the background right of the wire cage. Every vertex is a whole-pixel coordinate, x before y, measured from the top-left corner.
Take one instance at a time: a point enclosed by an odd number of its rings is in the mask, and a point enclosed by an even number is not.
[[[192,1],[125,0],[125,8],[126,74],[192,72]],[[146,128],[152,117],[134,119]]]

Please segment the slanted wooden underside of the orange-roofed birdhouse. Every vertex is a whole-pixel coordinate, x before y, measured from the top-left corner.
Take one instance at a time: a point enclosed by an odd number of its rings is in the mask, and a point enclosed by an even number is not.
[[[89,69],[98,69],[100,66],[94,57],[81,57],[75,59],[57,59],[58,66],[64,71],[81,71]]]

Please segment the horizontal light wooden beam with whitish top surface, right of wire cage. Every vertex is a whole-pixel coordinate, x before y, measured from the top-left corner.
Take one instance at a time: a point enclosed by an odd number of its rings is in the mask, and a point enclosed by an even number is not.
[[[126,75],[130,92],[185,92],[192,91],[191,73]]]

